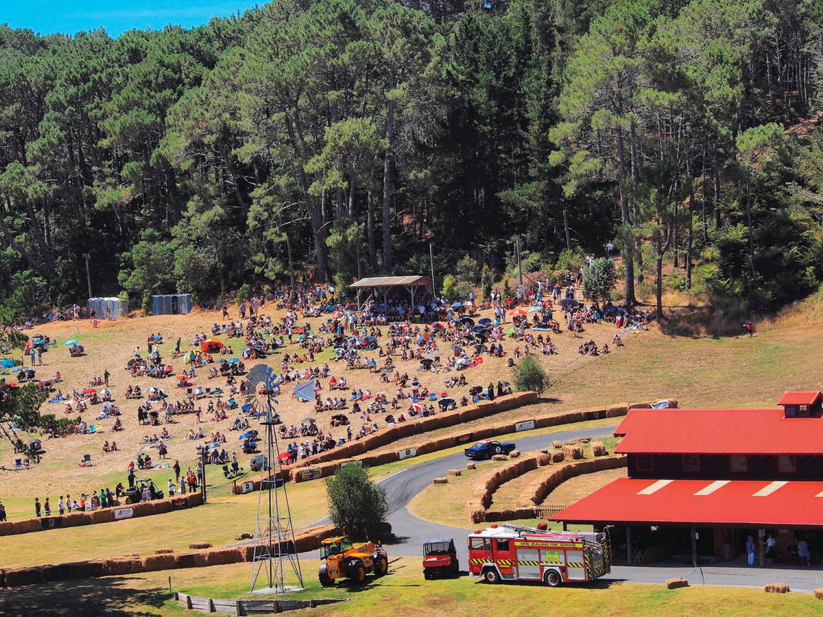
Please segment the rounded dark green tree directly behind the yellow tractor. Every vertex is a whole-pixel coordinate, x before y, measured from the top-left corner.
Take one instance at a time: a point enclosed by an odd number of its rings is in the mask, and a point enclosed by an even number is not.
[[[353,540],[374,538],[388,514],[386,490],[375,485],[365,467],[346,465],[326,478],[328,516]]]

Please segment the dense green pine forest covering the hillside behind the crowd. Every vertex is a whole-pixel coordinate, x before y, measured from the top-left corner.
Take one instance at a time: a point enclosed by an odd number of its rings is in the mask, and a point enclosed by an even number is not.
[[[429,244],[477,283],[519,236],[547,271],[614,240],[630,302],[657,275],[775,308],[823,278],[823,129],[785,132],[815,124],[821,58],[814,0],[280,0],[118,39],[2,27],[2,304],[85,299],[87,270],[137,304],[346,285],[425,273]]]

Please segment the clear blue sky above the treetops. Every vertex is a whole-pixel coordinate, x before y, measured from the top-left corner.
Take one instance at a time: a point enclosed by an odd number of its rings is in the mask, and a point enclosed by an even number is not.
[[[28,28],[41,35],[61,32],[74,35],[81,30],[103,27],[111,36],[126,30],[162,30],[169,24],[191,28],[206,24],[213,16],[244,12],[253,0],[0,0],[0,23]]]

